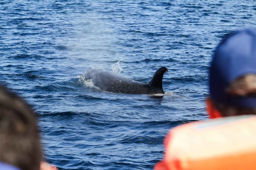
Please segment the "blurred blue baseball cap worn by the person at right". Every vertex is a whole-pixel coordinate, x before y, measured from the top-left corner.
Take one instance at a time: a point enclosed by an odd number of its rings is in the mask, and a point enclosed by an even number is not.
[[[223,104],[256,107],[256,97],[226,93],[233,80],[250,73],[256,74],[256,29],[234,32],[218,45],[210,68],[210,96]]]

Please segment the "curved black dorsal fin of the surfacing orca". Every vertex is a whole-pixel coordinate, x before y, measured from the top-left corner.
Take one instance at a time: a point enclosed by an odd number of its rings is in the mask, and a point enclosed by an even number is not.
[[[162,81],[165,72],[168,72],[168,69],[166,67],[161,67],[155,72],[155,74],[153,75],[149,82],[152,91],[158,91],[164,94]]]

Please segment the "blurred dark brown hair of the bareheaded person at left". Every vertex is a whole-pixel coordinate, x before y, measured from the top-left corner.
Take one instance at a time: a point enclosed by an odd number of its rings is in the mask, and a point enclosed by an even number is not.
[[[0,85],[0,161],[22,170],[39,170],[42,159],[37,122],[31,107]]]

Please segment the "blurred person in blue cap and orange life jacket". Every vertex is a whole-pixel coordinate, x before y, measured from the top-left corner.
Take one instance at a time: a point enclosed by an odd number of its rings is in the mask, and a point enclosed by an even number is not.
[[[219,44],[209,79],[212,119],[173,128],[155,170],[256,169],[255,29],[235,32]]]

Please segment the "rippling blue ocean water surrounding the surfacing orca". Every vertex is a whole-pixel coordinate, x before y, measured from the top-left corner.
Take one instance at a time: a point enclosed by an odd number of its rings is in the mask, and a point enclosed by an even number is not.
[[[226,34],[254,27],[253,0],[0,0],[0,81],[38,114],[59,169],[152,169],[167,132],[208,119],[208,70]],[[147,82],[163,98],[100,91],[97,68]]]

